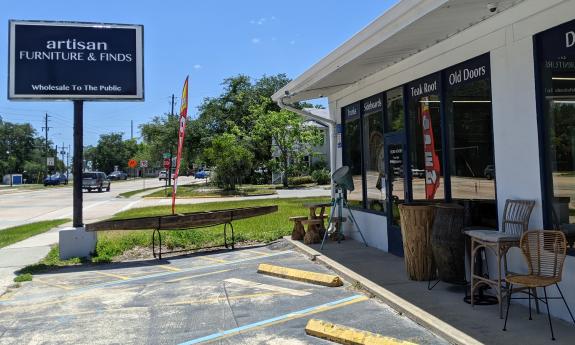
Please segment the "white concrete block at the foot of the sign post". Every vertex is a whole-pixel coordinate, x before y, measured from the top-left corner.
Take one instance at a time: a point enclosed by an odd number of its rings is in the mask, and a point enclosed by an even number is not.
[[[96,250],[96,233],[84,227],[66,228],[60,231],[60,259],[89,257]]]

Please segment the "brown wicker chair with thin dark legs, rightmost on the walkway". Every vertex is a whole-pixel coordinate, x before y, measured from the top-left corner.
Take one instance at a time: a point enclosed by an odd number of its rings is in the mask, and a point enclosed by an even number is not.
[[[565,234],[561,231],[540,230],[540,231],[527,231],[521,236],[521,251],[527,261],[528,273],[515,274],[506,277],[505,280],[510,284],[509,297],[507,299],[507,312],[505,314],[505,323],[503,330],[507,330],[507,318],[509,317],[509,307],[511,306],[511,299],[513,295],[513,286],[520,285],[523,289],[527,288],[529,291],[538,287],[543,288],[545,300],[541,300],[547,306],[547,317],[549,318],[549,328],[551,329],[551,339],[555,340],[553,334],[553,325],[551,324],[551,314],[549,313],[549,299],[561,298],[567,307],[569,315],[573,323],[575,318],[569,309],[563,292],[559,288],[561,275],[563,273],[563,263],[565,262],[565,254],[567,251],[567,239]],[[561,297],[547,297],[547,287],[555,285]],[[518,289],[521,290],[521,289]],[[531,292],[529,294],[529,320],[531,317]],[[538,299],[536,296],[533,298]],[[525,299],[525,298],[513,298]]]

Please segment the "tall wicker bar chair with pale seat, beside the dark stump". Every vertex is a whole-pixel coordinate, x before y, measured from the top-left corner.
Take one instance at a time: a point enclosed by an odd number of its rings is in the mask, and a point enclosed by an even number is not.
[[[533,200],[506,200],[503,211],[501,231],[465,230],[471,238],[471,306],[474,305],[474,293],[480,285],[491,286],[497,291],[499,301],[499,317],[503,318],[503,287],[501,260],[504,262],[504,272],[507,273],[507,252],[511,247],[518,247],[521,235],[527,231],[531,211],[535,206]],[[497,257],[497,280],[484,277],[481,272],[475,272],[474,261],[479,250],[490,249]],[[537,305],[539,307],[539,305]]]

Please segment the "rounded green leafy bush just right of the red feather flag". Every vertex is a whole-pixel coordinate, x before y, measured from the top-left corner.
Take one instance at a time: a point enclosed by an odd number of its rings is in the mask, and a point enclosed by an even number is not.
[[[234,190],[252,170],[253,153],[235,134],[214,137],[204,155],[215,165],[215,181],[225,189]]]

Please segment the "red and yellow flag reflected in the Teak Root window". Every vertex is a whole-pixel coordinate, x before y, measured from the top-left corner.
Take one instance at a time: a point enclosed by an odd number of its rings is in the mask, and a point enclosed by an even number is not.
[[[423,128],[423,153],[425,156],[425,199],[433,200],[439,188],[440,164],[435,152],[435,139],[429,112],[429,98],[421,99],[421,126]]]

